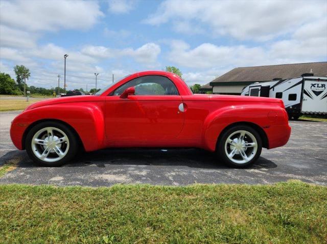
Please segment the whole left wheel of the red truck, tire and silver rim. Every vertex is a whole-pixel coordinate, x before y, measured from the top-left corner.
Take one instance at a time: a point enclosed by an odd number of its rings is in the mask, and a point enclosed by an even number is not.
[[[73,131],[58,122],[42,122],[26,137],[26,151],[41,166],[61,166],[71,160],[78,149]]]

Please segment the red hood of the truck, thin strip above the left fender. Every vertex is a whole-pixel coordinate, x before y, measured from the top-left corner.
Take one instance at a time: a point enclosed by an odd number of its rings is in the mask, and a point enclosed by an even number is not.
[[[103,97],[100,96],[92,96],[92,95],[81,95],[81,96],[71,96],[71,97],[58,97],[42,100],[39,102],[35,102],[29,105],[26,110],[35,109],[36,107],[59,104],[59,103],[69,103],[69,102],[86,102],[86,101],[102,101]]]

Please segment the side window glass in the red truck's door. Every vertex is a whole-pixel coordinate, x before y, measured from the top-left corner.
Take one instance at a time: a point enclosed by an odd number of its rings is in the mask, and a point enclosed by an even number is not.
[[[147,75],[132,79],[117,88],[113,95],[119,96],[129,87],[135,88],[135,95],[179,95],[175,84],[167,77],[160,75]]]

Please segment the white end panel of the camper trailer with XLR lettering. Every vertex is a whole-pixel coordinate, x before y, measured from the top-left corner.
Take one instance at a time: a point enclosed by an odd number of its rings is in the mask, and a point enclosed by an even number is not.
[[[305,80],[301,113],[327,114],[327,80]]]

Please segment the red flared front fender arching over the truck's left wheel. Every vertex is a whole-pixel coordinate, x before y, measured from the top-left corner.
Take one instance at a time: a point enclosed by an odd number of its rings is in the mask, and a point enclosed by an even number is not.
[[[33,124],[42,120],[62,121],[75,129],[86,151],[104,146],[103,103],[69,103],[36,107],[18,115],[12,122],[11,139],[18,149],[22,149],[24,133]]]

